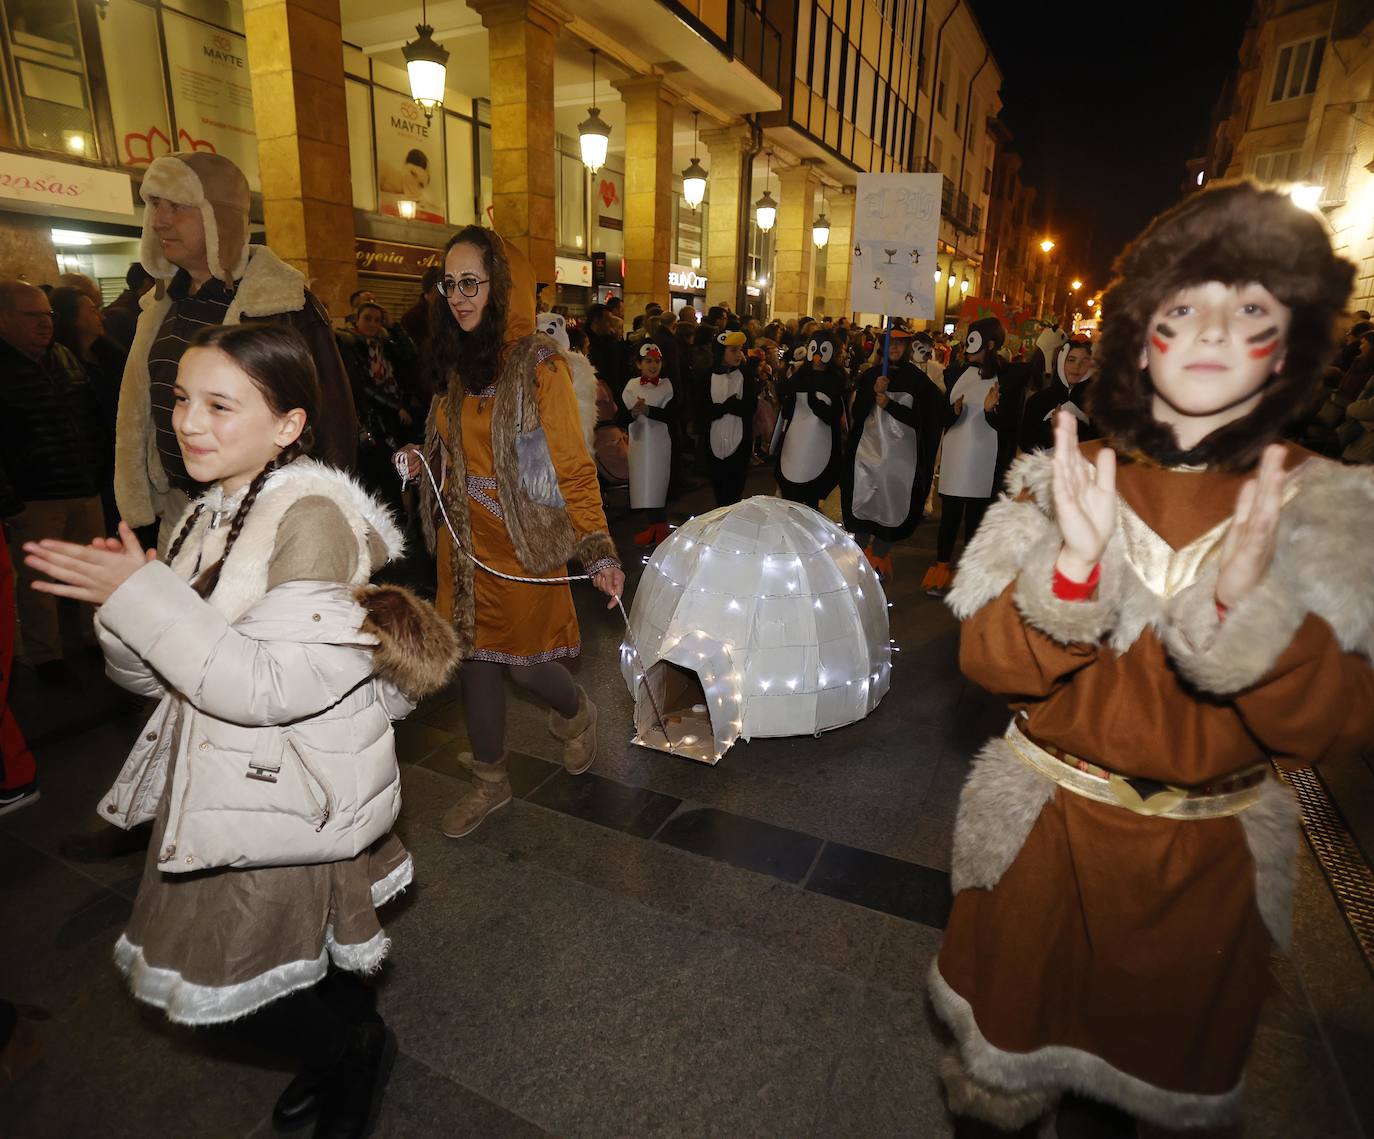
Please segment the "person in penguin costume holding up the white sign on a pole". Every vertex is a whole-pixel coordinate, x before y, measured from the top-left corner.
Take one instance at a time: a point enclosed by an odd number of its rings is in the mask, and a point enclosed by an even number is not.
[[[944,393],[912,357],[914,335],[894,320],[886,374],[879,361],[859,376],[840,482],[845,529],[883,580],[892,543],[921,522],[945,419]]]

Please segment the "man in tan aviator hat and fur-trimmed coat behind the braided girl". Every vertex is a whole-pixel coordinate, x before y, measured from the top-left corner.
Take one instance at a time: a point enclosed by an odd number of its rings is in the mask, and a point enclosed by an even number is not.
[[[120,389],[114,495],[131,526],[176,525],[198,484],[185,473],[172,431],[177,365],[205,324],[273,320],[291,324],[311,346],[320,376],[315,455],[349,467],[357,419],[328,317],[298,269],[261,245],[249,245],[249,183],[220,154],[169,154],[148,166],[139,261],[157,280],[142,313]]]

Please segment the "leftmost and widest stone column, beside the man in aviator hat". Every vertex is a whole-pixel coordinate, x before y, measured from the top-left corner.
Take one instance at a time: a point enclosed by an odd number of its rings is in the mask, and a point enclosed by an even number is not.
[[[339,0],[243,0],[267,242],[335,315],[357,289]]]

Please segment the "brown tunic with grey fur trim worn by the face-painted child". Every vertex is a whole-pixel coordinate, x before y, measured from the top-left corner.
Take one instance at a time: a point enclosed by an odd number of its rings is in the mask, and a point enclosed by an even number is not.
[[[1101,444],[1087,444],[1091,458]],[[1215,785],[1374,738],[1374,478],[1289,448],[1267,577],[1223,617],[1220,543],[1245,473],[1121,460],[1094,598],[1052,589],[1050,459],[1017,460],[948,605],[960,665],[1026,736],[1140,780]],[[1149,785],[1142,785],[1149,786]],[[1287,943],[1297,809],[1272,775],[1224,817],[1135,813],[988,743],[959,801],[954,910],[930,973],[958,1110],[1020,1127],[1065,1091],[1161,1127],[1241,1113]]]

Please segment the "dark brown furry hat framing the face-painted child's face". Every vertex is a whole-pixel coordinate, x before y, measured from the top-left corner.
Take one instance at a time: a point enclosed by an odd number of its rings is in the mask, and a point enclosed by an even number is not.
[[[1160,214],[1125,247],[1102,297],[1098,378],[1090,414],[1110,444],[1168,466],[1246,470],[1311,403],[1334,349],[1355,267],[1331,251],[1322,223],[1283,194],[1250,183],[1205,190]],[[1150,317],[1191,284],[1264,286],[1292,311],[1287,353],[1248,415],[1191,451],[1153,414],[1154,385],[1140,367]]]

